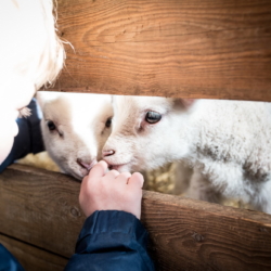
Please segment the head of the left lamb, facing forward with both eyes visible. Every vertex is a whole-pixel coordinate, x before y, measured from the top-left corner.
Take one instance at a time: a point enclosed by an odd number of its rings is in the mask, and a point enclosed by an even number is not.
[[[38,101],[46,150],[65,173],[82,179],[111,133],[112,96],[41,92]]]

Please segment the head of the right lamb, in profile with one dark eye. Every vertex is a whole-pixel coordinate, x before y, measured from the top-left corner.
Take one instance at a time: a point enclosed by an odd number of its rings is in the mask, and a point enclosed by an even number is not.
[[[149,170],[188,155],[192,100],[114,96],[113,104],[113,131],[103,147],[112,168]]]

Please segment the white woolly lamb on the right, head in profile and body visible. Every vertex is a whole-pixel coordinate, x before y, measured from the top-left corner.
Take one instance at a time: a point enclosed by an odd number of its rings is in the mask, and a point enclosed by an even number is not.
[[[103,156],[119,171],[185,160],[194,198],[236,198],[271,214],[270,134],[269,103],[116,96]]]

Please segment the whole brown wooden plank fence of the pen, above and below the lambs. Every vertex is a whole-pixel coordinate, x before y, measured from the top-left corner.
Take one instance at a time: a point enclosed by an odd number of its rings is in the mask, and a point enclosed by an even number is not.
[[[74,49],[54,91],[271,101],[270,0],[57,5]],[[63,270],[73,255],[79,188],[22,165],[0,175],[0,242],[27,271]],[[271,270],[270,215],[144,191],[142,222],[157,270]]]

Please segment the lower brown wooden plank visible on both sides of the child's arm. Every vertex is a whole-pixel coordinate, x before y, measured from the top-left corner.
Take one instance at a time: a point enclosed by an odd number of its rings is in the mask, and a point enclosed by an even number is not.
[[[79,183],[22,165],[0,175],[0,232],[69,257],[85,217]],[[157,270],[270,270],[271,216],[144,192]]]

